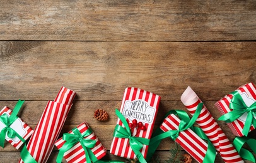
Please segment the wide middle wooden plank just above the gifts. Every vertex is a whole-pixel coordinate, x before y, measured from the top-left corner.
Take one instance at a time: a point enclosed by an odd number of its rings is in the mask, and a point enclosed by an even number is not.
[[[75,100],[121,100],[126,87],[180,100],[188,85],[219,100],[256,81],[256,42],[1,41],[0,51],[1,100],[53,100],[62,85]]]

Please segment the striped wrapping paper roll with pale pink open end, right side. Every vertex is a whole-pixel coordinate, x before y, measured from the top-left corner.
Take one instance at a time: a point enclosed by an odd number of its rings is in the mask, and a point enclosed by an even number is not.
[[[183,92],[181,100],[191,115],[194,115],[197,105],[202,102],[190,87]],[[226,137],[223,130],[221,130],[205,105],[196,122],[209,140],[211,140],[224,162],[243,162],[235,147],[233,147],[230,140],[228,140],[228,137]]]

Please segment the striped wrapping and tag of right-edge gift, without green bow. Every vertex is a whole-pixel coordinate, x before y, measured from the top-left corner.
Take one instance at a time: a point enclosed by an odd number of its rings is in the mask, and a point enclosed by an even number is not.
[[[240,93],[241,97],[243,98],[243,101],[246,105],[250,106],[252,103],[256,101],[256,87],[253,85],[253,83],[248,83],[246,85],[241,86],[236,90],[238,93]],[[233,98],[233,95],[228,94],[225,97],[221,98],[218,102],[215,103],[215,106],[218,108],[219,112],[221,112],[221,115],[231,112],[230,109],[230,102]],[[227,123],[228,127],[230,127],[231,131],[234,135],[242,137],[243,136],[243,127],[245,126],[245,120],[247,118],[247,112],[245,112],[240,118],[237,120]],[[251,125],[250,130],[254,130],[255,127]]]

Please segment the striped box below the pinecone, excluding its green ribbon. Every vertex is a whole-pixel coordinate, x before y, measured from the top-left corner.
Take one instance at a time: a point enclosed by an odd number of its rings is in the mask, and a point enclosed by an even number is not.
[[[88,130],[90,127],[86,122],[84,122],[84,123],[78,125],[77,128],[78,128],[79,132],[81,132],[81,134],[83,135],[84,132],[86,132],[86,130]],[[74,134],[74,133],[71,130],[69,132],[69,134]],[[96,145],[95,145],[95,147],[91,148],[91,151],[93,152],[93,154],[95,154],[95,157],[98,160],[102,159],[102,157],[104,157],[104,155],[107,154],[107,150],[102,145],[100,140],[98,140],[98,137],[96,137],[94,132],[92,132],[90,135],[88,135],[87,137],[84,137],[84,138],[96,141]],[[55,142],[55,145],[58,149],[61,149],[62,145],[64,145],[65,142],[66,141],[61,138],[61,139],[57,140],[57,142]],[[76,145],[74,145],[74,147],[72,147],[71,149],[67,150],[67,152],[64,153],[64,158],[67,160],[67,162],[77,162],[77,163],[86,162],[84,149],[83,149],[82,145],[80,144],[80,142],[78,142]]]

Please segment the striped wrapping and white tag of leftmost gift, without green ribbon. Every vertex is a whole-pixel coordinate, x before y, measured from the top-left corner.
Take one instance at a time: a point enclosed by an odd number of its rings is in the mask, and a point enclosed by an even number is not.
[[[8,107],[4,107],[0,111],[0,115],[3,115],[6,113],[8,116],[11,115],[13,111],[9,109]],[[3,122],[0,121],[0,130],[2,130],[6,125],[3,124]],[[33,134],[33,129],[26,124],[21,118],[17,118],[13,124],[10,125],[11,129],[15,130],[21,137],[23,137],[24,140],[27,140],[32,134]],[[6,135],[6,140],[13,145],[16,149],[19,149],[23,142],[18,138],[15,137],[13,139],[10,139]]]

